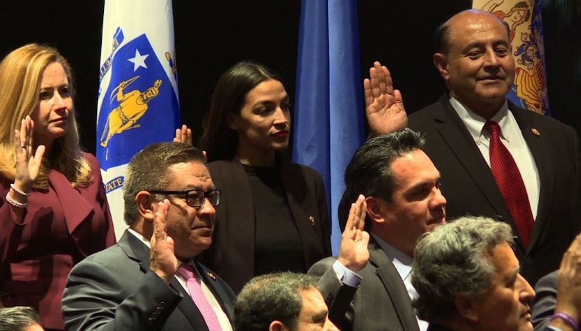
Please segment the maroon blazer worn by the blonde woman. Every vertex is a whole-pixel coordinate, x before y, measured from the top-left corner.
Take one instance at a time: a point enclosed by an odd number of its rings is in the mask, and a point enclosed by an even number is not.
[[[1,178],[0,300],[34,307],[45,328],[64,329],[60,299],[73,265],[115,243],[99,164],[84,157],[92,183],[73,188],[61,172],[49,171],[49,188],[28,197],[23,225],[6,202],[10,181]]]

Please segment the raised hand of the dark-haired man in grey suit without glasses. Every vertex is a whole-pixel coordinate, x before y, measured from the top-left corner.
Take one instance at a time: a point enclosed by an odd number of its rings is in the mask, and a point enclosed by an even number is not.
[[[365,268],[367,261],[369,261],[369,250],[367,249],[369,233],[363,230],[365,215],[367,215],[367,204],[365,197],[360,195],[357,201],[351,204],[339,247],[339,262],[353,272]]]

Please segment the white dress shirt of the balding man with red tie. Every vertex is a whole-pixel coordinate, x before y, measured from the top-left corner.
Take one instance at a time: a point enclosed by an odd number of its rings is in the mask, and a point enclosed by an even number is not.
[[[460,116],[460,119],[470,132],[470,135],[476,142],[476,146],[482,153],[486,164],[490,167],[490,133],[484,129],[486,120],[462,105],[456,98],[450,97],[450,104]],[[521,173],[522,181],[525,183],[526,194],[529,197],[530,211],[533,213],[533,220],[537,218],[539,208],[540,180],[539,170],[533,155],[530,153],[529,146],[526,145],[525,138],[522,136],[517,120],[511,111],[508,111],[508,104],[504,105],[498,112],[490,118],[500,126],[500,140],[511,153],[512,158],[517,164],[518,171]]]

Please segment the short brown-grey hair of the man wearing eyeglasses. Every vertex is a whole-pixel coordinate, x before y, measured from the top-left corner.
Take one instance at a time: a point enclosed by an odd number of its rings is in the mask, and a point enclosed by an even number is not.
[[[205,164],[206,158],[196,147],[175,142],[153,143],[135,154],[127,166],[123,187],[125,223],[131,225],[137,218],[137,193],[142,190],[164,190],[171,179],[167,176],[168,168],[193,161]],[[157,195],[153,197],[160,199]]]

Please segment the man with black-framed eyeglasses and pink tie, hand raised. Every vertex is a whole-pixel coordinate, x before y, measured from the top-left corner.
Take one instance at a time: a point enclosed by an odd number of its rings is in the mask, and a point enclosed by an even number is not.
[[[145,147],[129,163],[123,197],[130,227],[69,275],[66,329],[232,330],[234,293],[195,261],[210,247],[220,203],[202,152]]]

